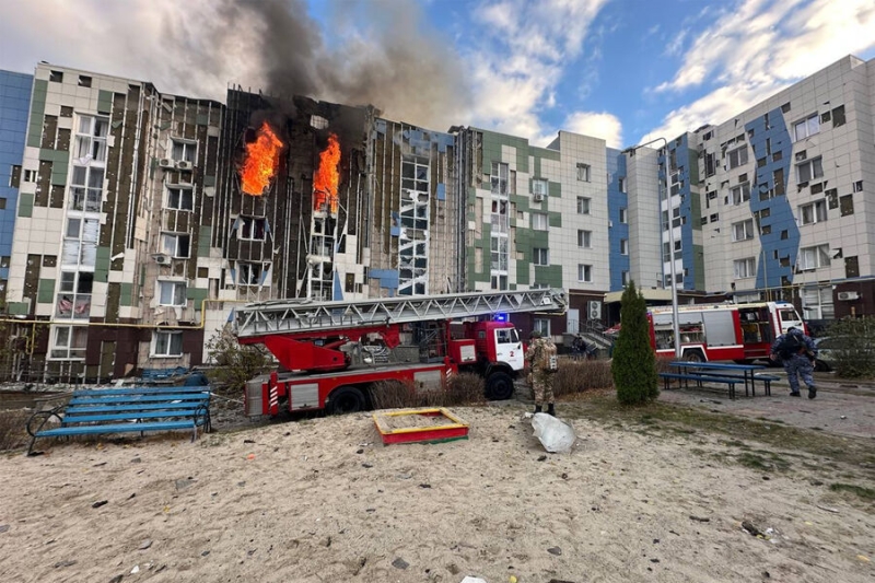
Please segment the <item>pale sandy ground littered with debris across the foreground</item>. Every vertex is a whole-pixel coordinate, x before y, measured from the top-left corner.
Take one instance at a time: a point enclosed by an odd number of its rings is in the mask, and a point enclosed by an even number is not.
[[[47,442],[0,458],[0,581],[875,581],[871,505],[802,468],[582,419],[547,454],[524,407],[454,408],[469,439],[430,445],[370,415]]]

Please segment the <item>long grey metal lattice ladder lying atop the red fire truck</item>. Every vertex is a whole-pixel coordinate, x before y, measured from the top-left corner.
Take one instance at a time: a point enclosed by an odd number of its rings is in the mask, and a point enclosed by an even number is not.
[[[279,300],[236,308],[234,334],[237,338],[252,338],[502,313],[562,313],[567,308],[564,292],[556,289],[413,295],[352,302]]]

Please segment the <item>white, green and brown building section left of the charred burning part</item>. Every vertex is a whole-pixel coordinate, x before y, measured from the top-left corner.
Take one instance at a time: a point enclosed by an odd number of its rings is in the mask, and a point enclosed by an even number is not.
[[[201,361],[223,109],[36,67],[7,290],[28,370],[108,380]]]

